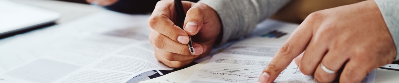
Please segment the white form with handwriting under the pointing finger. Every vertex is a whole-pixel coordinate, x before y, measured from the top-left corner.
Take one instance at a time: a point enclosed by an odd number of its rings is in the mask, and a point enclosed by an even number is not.
[[[281,43],[279,39],[253,37],[214,55],[201,70],[185,83],[259,83],[263,69],[273,59]],[[375,70],[362,83],[373,83]],[[313,76],[303,75],[292,61],[275,80],[282,83],[317,83]]]

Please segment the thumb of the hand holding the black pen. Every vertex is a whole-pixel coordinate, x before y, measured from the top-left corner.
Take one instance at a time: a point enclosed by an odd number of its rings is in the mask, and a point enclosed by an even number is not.
[[[190,36],[196,35],[203,25],[203,10],[200,4],[196,4],[187,11],[184,20],[184,31]]]

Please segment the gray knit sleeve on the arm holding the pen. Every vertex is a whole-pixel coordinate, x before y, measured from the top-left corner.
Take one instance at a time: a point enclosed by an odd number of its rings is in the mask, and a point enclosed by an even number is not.
[[[223,36],[219,45],[227,40],[245,36],[256,25],[273,15],[289,0],[200,0],[219,14]]]

